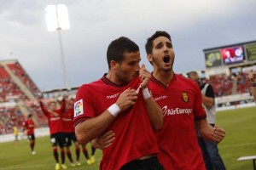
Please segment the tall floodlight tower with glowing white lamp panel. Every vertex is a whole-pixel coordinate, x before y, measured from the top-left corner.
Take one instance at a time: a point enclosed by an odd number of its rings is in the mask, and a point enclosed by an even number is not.
[[[58,31],[60,48],[61,48],[61,63],[62,63],[63,77],[64,77],[66,88],[68,90],[69,84],[67,79],[67,71],[66,71],[64,52],[62,47],[62,39],[61,39],[61,30],[70,29],[67,6],[65,4],[48,5],[45,8],[45,12],[46,12],[45,18],[46,18],[47,30]]]

